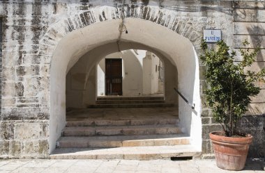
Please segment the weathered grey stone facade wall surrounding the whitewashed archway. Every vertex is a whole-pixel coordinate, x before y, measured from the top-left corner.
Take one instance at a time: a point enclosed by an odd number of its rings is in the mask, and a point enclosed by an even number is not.
[[[222,38],[235,48],[241,47],[243,38],[254,43],[252,47],[257,45],[257,38],[262,41],[263,48],[265,45],[264,36],[261,36],[264,35],[262,22],[265,19],[262,2],[126,1],[125,8],[126,17],[160,24],[188,38],[198,55],[203,28],[221,29]],[[3,16],[0,157],[47,158],[51,128],[50,66],[56,44],[67,33],[78,28],[119,19],[121,1],[1,1],[0,15]],[[245,27],[248,24],[258,26],[259,29]],[[256,67],[263,67],[264,53],[263,49]],[[205,87],[204,69],[204,66],[200,67],[201,90]],[[208,133],[220,129],[220,125],[214,122],[211,110],[205,105],[204,94],[201,94],[203,154],[209,154],[212,151]],[[262,91],[252,104],[252,114],[257,115],[254,118],[258,120],[261,117],[258,115],[264,114],[264,94]],[[262,138],[264,140],[264,135]],[[260,140],[255,141],[257,145],[253,146],[261,147]]]

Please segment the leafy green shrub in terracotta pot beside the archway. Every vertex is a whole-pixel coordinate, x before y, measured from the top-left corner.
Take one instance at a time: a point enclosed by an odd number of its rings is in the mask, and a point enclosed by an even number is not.
[[[252,135],[243,134],[236,128],[237,122],[248,110],[251,97],[259,93],[255,85],[265,76],[265,69],[259,72],[246,70],[255,61],[259,47],[250,51],[240,49],[241,62],[235,62],[235,51],[230,51],[223,40],[216,49],[209,50],[205,41],[201,47],[204,54],[200,56],[206,65],[206,101],[212,109],[213,118],[222,125],[223,131],[210,133],[218,167],[225,170],[243,170],[252,142]]]

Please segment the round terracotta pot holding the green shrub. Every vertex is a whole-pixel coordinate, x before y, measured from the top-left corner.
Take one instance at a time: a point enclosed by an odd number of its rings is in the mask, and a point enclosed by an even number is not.
[[[221,131],[210,133],[216,165],[224,170],[243,170],[252,135],[243,138],[225,137]]]

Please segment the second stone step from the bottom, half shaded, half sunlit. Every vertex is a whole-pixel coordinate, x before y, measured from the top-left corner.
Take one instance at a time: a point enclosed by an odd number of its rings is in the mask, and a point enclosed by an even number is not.
[[[91,137],[61,137],[57,142],[59,148],[111,148],[144,147],[162,145],[189,145],[190,138],[178,135],[115,135]]]

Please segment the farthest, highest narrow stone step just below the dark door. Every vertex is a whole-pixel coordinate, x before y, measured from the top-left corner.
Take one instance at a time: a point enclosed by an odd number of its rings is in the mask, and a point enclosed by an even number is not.
[[[97,100],[165,100],[164,97],[98,97]]]

